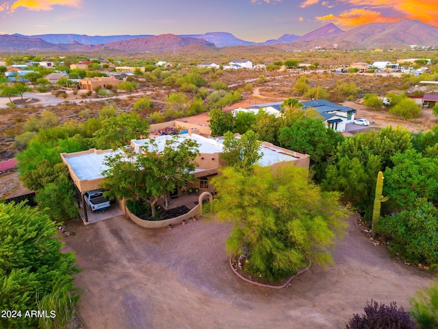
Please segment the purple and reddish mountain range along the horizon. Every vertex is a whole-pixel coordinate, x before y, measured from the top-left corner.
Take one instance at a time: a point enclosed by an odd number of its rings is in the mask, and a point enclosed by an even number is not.
[[[435,47],[438,29],[420,21],[402,19],[394,23],[368,23],[343,31],[333,23],[304,36],[284,34],[278,39],[251,42],[227,32],[177,36],[149,34],[131,36],[87,36],[83,34],[0,35],[0,51],[172,51],[184,47],[271,46],[298,50],[313,47],[341,49],[405,48],[409,45]]]

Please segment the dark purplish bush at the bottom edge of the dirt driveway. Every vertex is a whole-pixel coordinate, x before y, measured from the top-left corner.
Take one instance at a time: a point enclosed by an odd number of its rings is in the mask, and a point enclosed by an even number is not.
[[[365,314],[354,315],[346,329],[415,329],[411,315],[402,306],[398,308],[396,302],[387,306],[371,300],[363,310]]]

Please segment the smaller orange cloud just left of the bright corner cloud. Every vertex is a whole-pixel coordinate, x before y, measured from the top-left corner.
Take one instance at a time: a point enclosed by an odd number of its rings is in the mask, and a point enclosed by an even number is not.
[[[389,23],[398,21],[399,18],[383,16],[380,12],[365,9],[353,9],[343,12],[339,16],[329,14],[316,17],[317,21],[333,21],[342,27],[355,27],[366,23]]]

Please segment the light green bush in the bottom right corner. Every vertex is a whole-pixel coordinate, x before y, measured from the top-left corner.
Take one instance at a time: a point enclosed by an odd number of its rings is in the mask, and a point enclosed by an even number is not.
[[[410,301],[412,317],[417,321],[418,329],[438,328],[438,284],[437,282],[418,291]]]

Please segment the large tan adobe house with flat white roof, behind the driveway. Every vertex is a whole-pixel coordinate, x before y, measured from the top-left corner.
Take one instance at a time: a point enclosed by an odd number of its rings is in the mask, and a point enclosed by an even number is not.
[[[193,172],[197,179],[196,182],[191,182],[187,186],[179,186],[176,191],[168,193],[172,196],[183,195],[190,189],[194,191],[197,190],[198,193],[205,191],[214,192],[211,179],[218,174],[219,167],[224,166],[224,160],[220,158],[220,154],[223,151],[223,138],[209,138],[196,134],[196,132],[208,130],[207,127],[183,123],[182,121],[172,121],[172,123],[188,130],[188,133],[177,135],[179,136],[179,141],[184,141],[187,138],[193,139],[199,145],[198,151],[200,154],[196,157],[197,165]],[[170,123],[157,124],[156,127],[155,125],[151,125],[151,132],[162,129],[166,124]],[[166,140],[169,138],[172,138],[172,136],[162,135],[155,137],[157,152],[164,149]],[[130,147],[133,151],[136,151],[136,153],[140,153],[146,141],[147,140],[132,140]],[[68,167],[75,186],[77,186],[77,189],[81,195],[83,195],[87,191],[98,188],[99,185],[103,183],[104,177],[102,171],[107,169],[103,162],[106,156],[111,156],[115,154],[115,152],[120,152],[120,150],[89,149],[88,151],[79,151],[70,154],[62,153],[60,156],[62,162]],[[266,142],[262,143],[261,152],[263,156],[258,163],[263,167],[280,167],[285,164],[294,164],[297,167],[309,169],[310,160],[307,154],[300,154]],[[122,210],[126,212],[125,209]]]

